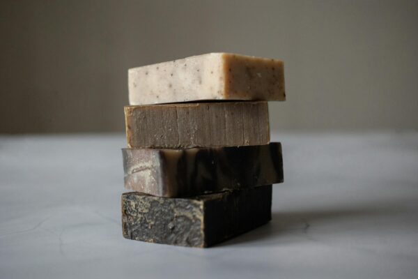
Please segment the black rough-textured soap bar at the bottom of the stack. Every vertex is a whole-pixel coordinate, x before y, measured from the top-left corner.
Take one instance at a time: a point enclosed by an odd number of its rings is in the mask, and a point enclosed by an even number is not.
[[[271,220],[272,186],[188,198],[122,195],[126,239],[208,247]]]

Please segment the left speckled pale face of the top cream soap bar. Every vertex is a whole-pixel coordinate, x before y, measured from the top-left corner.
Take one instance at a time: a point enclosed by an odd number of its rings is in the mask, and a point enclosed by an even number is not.
[[[217,100],[224,93],[222,54],[210,53],[128,70],[130,105]]]

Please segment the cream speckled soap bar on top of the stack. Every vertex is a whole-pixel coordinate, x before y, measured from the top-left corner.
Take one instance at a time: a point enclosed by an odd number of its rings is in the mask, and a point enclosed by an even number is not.
[[[128,70],[130,105],[285,100],[283,62],[210,53]]]

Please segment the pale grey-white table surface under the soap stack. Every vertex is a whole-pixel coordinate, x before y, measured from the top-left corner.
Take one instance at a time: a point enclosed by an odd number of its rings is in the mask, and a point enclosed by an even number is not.
[[[0,137],[0,278],[418,278],[418,133],[282,133],[272,221],[123,239],[123,135]]]

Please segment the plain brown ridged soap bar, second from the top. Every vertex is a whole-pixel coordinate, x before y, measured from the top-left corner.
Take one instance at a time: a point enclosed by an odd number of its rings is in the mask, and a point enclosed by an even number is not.
[[[125,107],[130,148],[268,144],[268,104],[183,103]]]

